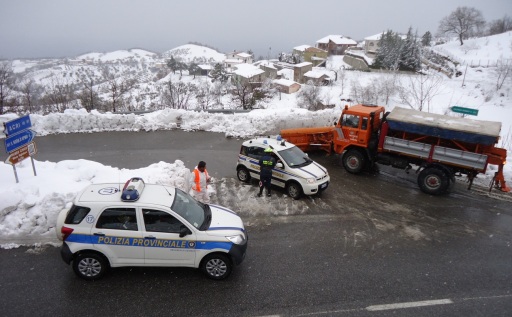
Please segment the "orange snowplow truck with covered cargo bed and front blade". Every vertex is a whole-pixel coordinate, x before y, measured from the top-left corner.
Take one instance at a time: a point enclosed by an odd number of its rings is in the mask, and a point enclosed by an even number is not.
[[[334,126],[281,130],[281,136],[303,151],[339,154],[352,174],[375,163],[409,172],[415,166],[418,186],[431,195],[448,192],[455,176],[467,175],[468,189],[487,166],[497,171],[490,189],[509,192],[503,166],[506,149],[496,147],[501,123],[427,113],[406,108],[386,112],[382,106],[345,106]]]

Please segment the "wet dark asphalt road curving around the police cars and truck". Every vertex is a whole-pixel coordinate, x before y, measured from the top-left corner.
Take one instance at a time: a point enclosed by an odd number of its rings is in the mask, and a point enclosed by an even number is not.
[[[294,201],[277,190],[270,199],[257,198],[255,184],[235,179],[241,141],[182,131],[37,137],[36,160],[42,161],[83,158],[134,169],[176,159],[193,168],[205,160],[219,180],[213,202],[240,213],[247,225],[248,255],[222,282],[192,269],[122,268],[87,283],[74,276],[57,248],[0,250],[0,316],[512,312],[510,200],[462,185],[431,197],[419,191],[413,175],[386,168],[378,175],[351,175],[335,156],[322,153],[311,154],[331,175],[320,197]],[[432,300],[442,304],[377,306]]]

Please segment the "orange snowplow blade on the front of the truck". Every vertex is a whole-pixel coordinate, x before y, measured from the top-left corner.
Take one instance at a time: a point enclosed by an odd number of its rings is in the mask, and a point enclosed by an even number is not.
[[[301,150],[323,150],[331,153],[335,127],[298,128],[281,130],[281,137]]]

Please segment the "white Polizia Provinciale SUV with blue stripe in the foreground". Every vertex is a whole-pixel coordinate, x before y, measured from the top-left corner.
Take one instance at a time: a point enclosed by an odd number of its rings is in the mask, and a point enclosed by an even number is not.
[[[62,258],[81,278],[110,267],[180,266],[220,280],[244,259],[247,232],[233,211],[141,178],[121,186],[89,185],[58,216]]]

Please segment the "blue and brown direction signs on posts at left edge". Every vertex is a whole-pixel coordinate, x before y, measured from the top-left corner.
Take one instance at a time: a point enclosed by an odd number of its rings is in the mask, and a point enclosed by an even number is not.
[[[6,136],[4,141],[5,151],[9,153],[9,157],[5,160],[5,163],[12,165],[16,183],[19,183],[18,173],[16,173],[16,164],[28,157],[30,157],[32,161],[34,176],[37,176],[36,166],[32,158],[32,156],[37,153],[36,143],[33,142],[36,133],[29,130],[31,126],[32,122],[30,122],[29,115],[4,123],[4,133]]]

